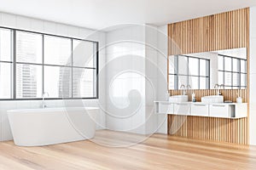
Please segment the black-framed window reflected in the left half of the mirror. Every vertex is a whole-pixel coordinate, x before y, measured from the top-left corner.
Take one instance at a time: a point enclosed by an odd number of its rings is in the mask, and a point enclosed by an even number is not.
[[[181,85],[189,85],[192,89],[209,88],[210,59],[186,55],[175,55],[169,59],[169,89],[179,89]]]

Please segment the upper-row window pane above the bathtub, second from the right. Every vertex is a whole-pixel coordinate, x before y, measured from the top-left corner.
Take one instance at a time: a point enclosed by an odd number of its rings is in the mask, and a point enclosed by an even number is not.
[[[44,64],[71,65],[71,39],[44,37]]]

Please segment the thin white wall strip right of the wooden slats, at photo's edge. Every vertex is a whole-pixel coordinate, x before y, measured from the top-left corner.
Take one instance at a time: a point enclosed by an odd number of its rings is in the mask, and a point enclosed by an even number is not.
[[[256,7],[250,8],[250,144],[256,145]]]

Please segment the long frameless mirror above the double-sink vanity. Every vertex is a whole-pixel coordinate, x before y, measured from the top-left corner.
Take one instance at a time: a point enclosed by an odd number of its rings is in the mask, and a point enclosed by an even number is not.
[[[247,48],[169,56],[169,89],[247,88]]]

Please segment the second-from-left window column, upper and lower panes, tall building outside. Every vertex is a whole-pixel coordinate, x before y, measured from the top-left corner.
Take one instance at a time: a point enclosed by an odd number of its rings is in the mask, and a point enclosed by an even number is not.
[[[39,65],[38,65],[39,64]],[[43,35],[16,31],[16,98],[41,98]]]

